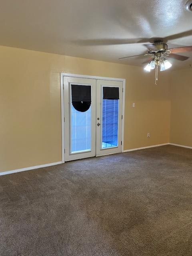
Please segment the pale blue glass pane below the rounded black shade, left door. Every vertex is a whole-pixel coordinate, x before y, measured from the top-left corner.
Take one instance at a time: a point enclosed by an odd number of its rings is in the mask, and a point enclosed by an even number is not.
[[[91,150],[91,106],[80,112],[71,104],[71,153]]]

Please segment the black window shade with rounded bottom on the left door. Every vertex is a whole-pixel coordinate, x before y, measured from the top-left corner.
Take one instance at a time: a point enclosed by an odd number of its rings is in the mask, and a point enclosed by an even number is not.
[[[87,111],[91,106],[91,86],[71,85],[72,105],[80,112]]]

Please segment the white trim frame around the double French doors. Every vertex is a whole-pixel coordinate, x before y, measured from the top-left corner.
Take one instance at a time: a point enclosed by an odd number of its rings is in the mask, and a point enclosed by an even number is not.
[[[63,78],[65,76],[75,77],[75,78],[90,78],[96,80],[108,80],[108,81],[120,81],[123,83],[123,98],[122,98],[122,132],[121,132],[121,140],[122,147],[121,152],[124,151],[124,114],[125,114],[125,83],[126,80],[124,78],[111,78],[111,77],[102,77],[102,76],[86,76],[86,75],[78,75],[78,74],[69,74],[69,73],[60,73],[60,90],[61,90],[61,137],[62,137],[62,163],[65,162],[65,140],[64,140],[64,81]]]

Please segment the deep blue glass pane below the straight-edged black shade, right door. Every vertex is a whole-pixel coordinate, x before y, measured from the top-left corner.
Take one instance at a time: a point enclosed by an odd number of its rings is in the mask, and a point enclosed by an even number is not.
[[[118,104],[117,99],[103,99],[102,149],[118,146]]]

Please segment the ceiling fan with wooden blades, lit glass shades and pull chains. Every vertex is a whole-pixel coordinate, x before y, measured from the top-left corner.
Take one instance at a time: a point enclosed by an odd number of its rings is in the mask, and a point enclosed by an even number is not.
[[[136,56],[148,56],[148,60],[144,63],[148,63],[147,66],[144,68],[147,72],[155,69],[155,85],[157,84],[158,80],[158,67],[160,66],[160,71],[164,71],[172,66],[172,64],[165,58],[172,58],[176,60],[187,60],[189,57],[176,54],[178,52],[191,52],[192,46],[184,46],[184,47],[177,47],[177,48],[170,48],[168,49],[168,45],[162,39],[154,40],[153,44],[145,46],[148,48],[148,53],[134,55],[134,56],[127,56],[123,58],[119,58],[119,60],[125,58],[131,58]]]

